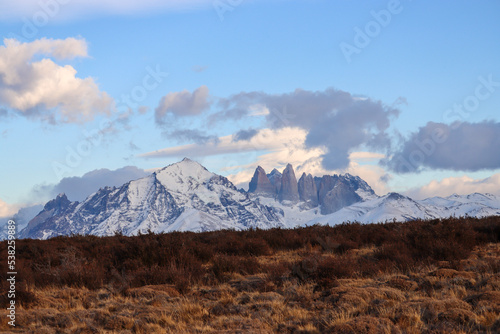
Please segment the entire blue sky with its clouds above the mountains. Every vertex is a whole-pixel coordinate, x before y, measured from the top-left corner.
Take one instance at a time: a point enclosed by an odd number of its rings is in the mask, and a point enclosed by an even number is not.
[[[0,1],[0,215],[184,156],[500,194],[497,1],[40,3]]]

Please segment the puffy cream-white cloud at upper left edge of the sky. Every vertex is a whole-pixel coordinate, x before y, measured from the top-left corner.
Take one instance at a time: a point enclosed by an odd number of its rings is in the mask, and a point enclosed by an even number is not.
[[[39,56],[44,56],[41,60]],[[76,77],[66,60],[87,57],[84,39],[42,38],[30,43],[4,39],[0,46],[0,103],[20,114],[49,122],[83,122],[109,113],[112,99],[92,78]]]

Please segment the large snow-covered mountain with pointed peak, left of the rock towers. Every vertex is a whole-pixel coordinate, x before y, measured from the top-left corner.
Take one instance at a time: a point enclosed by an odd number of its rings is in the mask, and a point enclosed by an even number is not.
[[[282,220],[279,209],[250,199],[225,177],[184,159],[119,188],[102,188],[81,203],[60,194],[20,237],[269,228],[283,226]]]

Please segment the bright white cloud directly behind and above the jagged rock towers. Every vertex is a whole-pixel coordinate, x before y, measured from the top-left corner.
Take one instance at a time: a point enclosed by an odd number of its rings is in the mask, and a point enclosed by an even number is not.
[[[350,154],[350,164],[343,170],[326,170],[321,157],[325,154],[323,148],[307,148],[305,140],[307,131],[301,128],[281,128],[259,130],[249,140],[234,140],[235,135],[220,137],[217,142],[207,144],[190,144],[169,147],[162,150],[142,154],[146,158],[163,157],[206,157],[223,154],[238,154],[248,152],[253,156],[247,158],[253,161],[241,165],[237,160],[224,160],[226,167],[218,172],[229,173],[228,179],[238,187],[245,188],[252,178],[257,166],[263,167],[266,172],[273,168],[282,171],[286,164],[291,163],[295,168],[295,174],[299,178],[303,172],[314,176],[325,174],[350,173],[364,179],[377,194],[388,192],[385,182],[381,179],[385,171],[378,166],[377,162],[384,157],[382,154],[372,152],[353,152]],[[265,151],[265,153],[263,153]]]

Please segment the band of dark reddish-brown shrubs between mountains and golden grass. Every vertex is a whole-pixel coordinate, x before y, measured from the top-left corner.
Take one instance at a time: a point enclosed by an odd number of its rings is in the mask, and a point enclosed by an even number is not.
[[[16,269],[20,273],[18,283],[34,287],[74,286],[92,290],[111,287],[121,291],[148,284],[173,284],[187,290],[193,284],[210,279],[224,281],[226,274],[255,274],[268,269],[273,284],[279,285],[283,275],[291,275],[329,287],[341,277],[372,277],[393,270],[408,272],[439,261],[448,261],[448,266],[456,269],[465,266],[474,272],[498,273],[500,261],[495,256],[485,253],[481,262],[474,264],[477,270],[461,260],[470,255],[474,247],[498,242],[499,238],[499,217],[371,225],[349,223],[291,230],[56,237],[17,240]],[[356,258],[350,251],[374,246],[378,249],[372,255]],[[341,256],[311,257],[313,249],[320,247]],[[305,250],[305,258],[302,263],[295,263],[290,274],[283,267],[261,268],[254,258],[277,250],[297,249]],[[0,253],[6,251],[7,243],[0,242]],[[221,260],[221,256],[235,258]],[[6,269],[5,261],[1,262],[3,290]],[[25,306],[32,303],[33,296],[28,291],[24,295],[18,291]],[[4,297],[0,304],[5,305]]]

